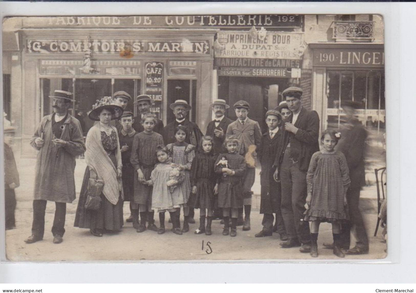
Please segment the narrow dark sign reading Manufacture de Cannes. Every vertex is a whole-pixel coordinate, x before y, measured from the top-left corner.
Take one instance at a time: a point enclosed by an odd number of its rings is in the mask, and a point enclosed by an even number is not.
[[[302,60],[263,58],[214,58],[216,67],[300,68]]]

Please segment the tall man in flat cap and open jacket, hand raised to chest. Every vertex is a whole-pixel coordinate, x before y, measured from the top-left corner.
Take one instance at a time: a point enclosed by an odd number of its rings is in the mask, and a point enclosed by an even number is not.
[[[282,216],[288,240],[283,248],[299,247],[310,252],[309,224],[303,221],[307,196],[306,173],[312,154],[319,151],[319,116],[316,111],[302,107],[302,89],[292,86],[283,91],[291,122],[285,122],[282,143],[274,162],[274,179],[281,181]]]

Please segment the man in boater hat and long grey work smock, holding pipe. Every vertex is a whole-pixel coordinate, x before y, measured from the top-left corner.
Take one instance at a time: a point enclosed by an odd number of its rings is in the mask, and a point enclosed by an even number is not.
[[[66,204],[75,199],[75,157],[84,153],[85,144],[79,121],[69,115],[72,93],[55,90],[53,114],[43,117],[30,145],[38,150],[33,200],[32,235],[25,240],[34,243],[43,239],[47,200],[56,210],[52,226],[53,243],[61,243],[65,229]]]

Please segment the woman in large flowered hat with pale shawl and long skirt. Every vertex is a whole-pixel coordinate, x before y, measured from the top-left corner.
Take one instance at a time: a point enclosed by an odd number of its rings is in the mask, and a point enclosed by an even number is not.
[[[111,105],[103,98],[90,112],[92,120],[100,122],[91,127],[85,142],[87,151],[84,180],[79,195],[75,227],[89,228],[91,234],[101,237],[103,232],[117,232],[123,226],[123,185],[121,181],[121,151],[117,129],[110,120],[118,119],[123,109]],[[104,181],[99,210],[87,210],[85,202],[88,196],[90,177]]]

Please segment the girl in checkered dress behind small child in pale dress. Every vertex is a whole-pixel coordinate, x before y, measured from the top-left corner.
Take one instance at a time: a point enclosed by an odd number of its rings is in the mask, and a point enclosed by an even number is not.
[[[166,147],[169,151],[169,156],[172,158],[172,163],[177,165],[182,165],[185,169],[185,178],[181,183],[181,190],[183,195],[183,229],[182,232],[189,231],[189,205],[188,200],[191,195],[191,180],[190,180],[190,171],[192,166],[193,158],[195,157],[195,147],[192,144],[187,144],[185,142],[186,137],[188,136],[188,129],[184,126],[178,126],[175,128],[175,139],[176,142],[173,144],[168,144]]]

